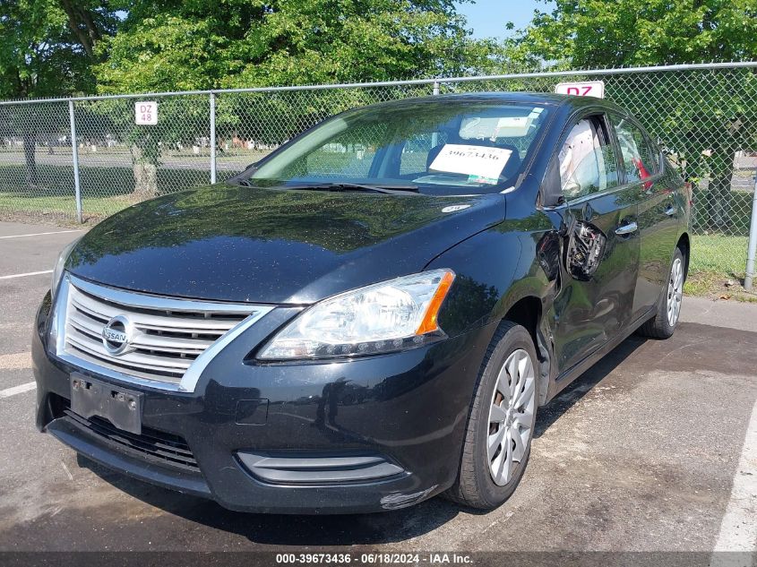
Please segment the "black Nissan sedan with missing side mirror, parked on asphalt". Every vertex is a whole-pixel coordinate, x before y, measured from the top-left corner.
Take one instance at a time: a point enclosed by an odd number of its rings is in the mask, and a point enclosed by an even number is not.
[[[490,93],[350,110],[61,254],[37,425],[230,509],[491,509],[538,408],[675,331],[690,196],[622,108]]]

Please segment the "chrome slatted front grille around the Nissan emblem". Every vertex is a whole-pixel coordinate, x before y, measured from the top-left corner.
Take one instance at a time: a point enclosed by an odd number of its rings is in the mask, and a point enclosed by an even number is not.
[[[59,356],[74,364],[87,363],[90,369],[94,365],[104,374],[115,372],[121,379],[126,376],[184,390],[179,387],[182,379],[211,345],[241,323],[249,326],[271,311],[264,305],[129,292],[68,274],[58,295],[58,314],[65,307],[65,317],[58,323],[62,332],[56,339]],[[103,341],[103,329],[115,317],[131,325],[129,346],[121,354],[111,353]]]

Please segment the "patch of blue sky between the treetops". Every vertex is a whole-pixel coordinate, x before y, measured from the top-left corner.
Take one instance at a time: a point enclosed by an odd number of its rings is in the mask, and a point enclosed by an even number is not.
[[[475,38],[503,39],[512,34],[504,27],[508,21],[519,30],[528,25],[534,10],[546,12],[551,7],[544,0],[476,0],[476,4],[459,4],[458,10],[468,18]]]

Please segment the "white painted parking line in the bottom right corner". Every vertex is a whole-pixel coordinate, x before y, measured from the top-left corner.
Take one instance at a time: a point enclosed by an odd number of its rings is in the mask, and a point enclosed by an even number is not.
[[[744,449],[736,467],[731,498],[720,523],[716,552],[749,552],[757,549],[757,402],[746,428]],[[724,560],[726,558],[723,558]],[[735,558],[731,558],[732,560]],[[744,557],[737,558],[744,565]],[[721,564],[713,556],[710,565]],[[727,563],[727,561],[725,562]],[[748,561],[745,565],[752,564]]]

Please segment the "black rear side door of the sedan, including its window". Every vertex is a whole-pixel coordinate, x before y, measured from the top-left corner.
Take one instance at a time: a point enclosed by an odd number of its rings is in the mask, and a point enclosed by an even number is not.
[[[678,237],[679,208],[670,177],[664,176],[658,148],[632,118],[610,114],[626,183],[639,194],[639,277],[633,296],[632,318],[657,305],[667,283]]]

